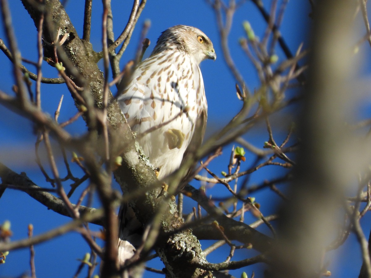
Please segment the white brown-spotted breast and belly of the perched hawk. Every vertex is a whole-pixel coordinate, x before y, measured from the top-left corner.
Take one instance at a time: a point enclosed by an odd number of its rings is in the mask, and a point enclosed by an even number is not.
[[[200,67],[190,55],[164,51],[140,63],[132,80],[118,97],[119,105],[133,131],[144,133],[139,143],[161,179],[179,168],[195,128],[198,115],[207,113]],[[181,115],[179,116],[179,113]],[[153,126],[167,125],[146,133]],[[184,133],[180,148],[169,149],[165,132]]]

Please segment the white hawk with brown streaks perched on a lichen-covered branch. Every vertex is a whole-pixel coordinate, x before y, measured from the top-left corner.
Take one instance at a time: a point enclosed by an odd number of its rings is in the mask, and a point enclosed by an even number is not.
[[[205,59],[215,60],[216,54],[203,32],[171,27],[162,32],[151,56],[138,64],[118,97],[145,155],[159,169],[158,179],[179,168],[188,146],[199,145],[203,138],[207,102],[198,65]],[[130,237],[130,232],[124,234]],[[125,249],[132,251],[132,246]]]

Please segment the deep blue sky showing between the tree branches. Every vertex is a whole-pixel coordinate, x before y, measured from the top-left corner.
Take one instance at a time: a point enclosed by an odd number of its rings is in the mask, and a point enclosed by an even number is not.
[[[22,3],[16,0],[9,0],[10,9],[12,11],[14,29],[17,35],[18,44],[23,57],[29,60],[36,61],[36,32],[33,21],[30,19],[26,10],[23,9]],[[83,8],[84,1],[67,1],[66,10],[75,25],[79,35],[82,36]],[[114,18],[114,32],[117,37],[124,28],[128,14],[131,10],[131,1],[112,1],[112,10]],[[269,10],[271,1],[263,1],[266,9]],[[171,4],[169,4],[171,3]],[[299,44],[304,41],[307,46],[308,34],[307,24],[310,22],[308,17],[310,11],[309,1],[290,1],[285,16],[282,22],[281,33],[286,40],[292,52],[295,52]],[[92,11],[92,36],[91,42],[96,51],[101,50],[101,18],[102,4],[101,1],[93,1]],[[151,40],[151,46],[145,55],[148,56],[154,47],[157,37],[162,31],[170,26],[177,24],[185,24],[198,27],[213,41],[214,48],[217,54],[215,62],[206,60],[201,63],[201,71],[203,73],[204,84],[206,88],[206,96],[209,105],[209,118],[207,135],[221,128],[227,123],[239,110],[241,103],[236,98],[234,89],[235,80],[227,69],[223,59],[221,47],[219,43],[219,34],[216,27],[215,15],[207,1],[203,0],[188,0],[188,1],[148,1],[137,27],[134,30],[131,44],[122,58],[122,64],[134,57],[137,49],[138,40],[140,37],[141,26],[144,20],[151,20],[151,28],[147,37]],[[232,32],[229,37],[229,46],[232,57],[236,66],[240,69],[247,86],[250,90],[259,86],[259,79],[252,63],[243,55],[239,47],[238,39],[244,35],[242,22],[248,20],[255,34],[259,37],[263,36],[266,23],[263,21],[256,7],[246,1],[240,9],[236,11]],[[2,23],[0,23],[1,25]],[[0,37],[4,38],[3,26],[1,26]],[[6,42],[6,41],[5,41]],[[7,43],[7,42],[6,42]],[[277,49],[279,57],[282,52]],[[0,53],[0,89],[7,93],[12,93],[13,84],[11,64],[6,56]],[[27,65],[29,69],[32,66]],[[54,68],[43,64],[43,75],[45,77],[57,77],[57,72]],[[115,91],[113,91],[115,93]],[[42,107],[45,111],[53,115],[60,96],[64,95],[62,110],[59,121],[63,122],[70,118],[76,111],[73,101],[69,96],[65,85],[44,85],[42,87]],[[49,187],[45,182],[38,168],[35,166],[34,160],[34,144],[36,136],[32,132],[32,126],[29,122],[20,116],[10,112],[0,106],[0,161],[12,168],[15,172],[26,172],[27,175],[39,186]],[[280,118],[278,118],[280,119]],[[287,121],[290,123],[290,121]],[[81,134],[85,124],[79,121],[67,128],[72,134]],[[280,125],[278,120],[272,119],[272,128],[277,134],[277,138],[283,139],[288,124]],[[268,139],[264,125],[259,125],[245,136],[245,138],[255,146],[262,148],[264,141]],[[279,140],[278,140],[279,141]],[[224,154],[214,162],[214,169],[217,171],[226,171],[228,157],[231,146],[224,148]],[[247,161],[243,165],[248,168],[253,163],[253,156],[247,155]],[[73,170],[76,176],[79,174],[78,169]],[[280,175],[282,170],[269,166],[260,171],[253,173],[250,178],[250,183],[259,183],[263,179],[269,179],[276,175]],[[81,173],[80,173],[81,174]],[[61,173],[61,175],[63,175]],[[194,186],[199,186],[194,183]],[[68,186],[68,184],[66,184]],[[117,187],[116,187],[117,188]],[[226,189],[220,185],[210,189],[214,197],[223,197],[227,195]],[[78,194],[75,195],[75,202]],[[273,204],[279,201],[272,193],[265,190],[256,194],[259,203],[262,203],[262,212],[269,215],[274,212]],[[269,202],[266,200],[269,199]],[[95,202],[98,206],[99,204]],[[185,210],[191,211],[194,203],[185,201]],[[246,218],[253,222],[253,216],[246,215]],[[27,225],[32,223],[35,227],[35,234],[40,234],[50,228],[62,225],[70,219],[65,216],[56,215],[52,211],[48,211],[45,206],[39,204],[30,198],[26,193],[7,189],[3,197],[0,199],[0,223],[9,219],[12,223],[13,237],[12,240],[22,239],[27,235]],[[365,216],[362,219],[362,224],[365,224],[365,231],[369,231],[370,216]],[[91,225],[91,229],[97,231],[98,226]],[[263,227],[264,232],[268,231]],[[368,234],[368,232],[366,232]],[[201,242],[204,246],[208,246],[210,242]],[[62,246],[62,247],[61,247]],[[76,271],[79,262],[77,258],[82,258],[85,252],[89,252],[89,246],[81,239],[77,233],[69,233],[59,238],[53,239],[44,244],[35,246],[36,250],[36,275],[37,277],[72,277]],[[344,252],[345,251],[345,252]],[[211,262],[224,261],[228,255],[227,248],[221,249],[216,255],[207,257]],[[335,255],[336,253],[336,255]],[[235,260],[247,258],[255,254],[255,251],[242,251],[233,258]],[[353,255],[349,255],[353,254]],[[12,251],[7,257],[5,265],[0,266],[0,277],[19,276],[22,273],[29,271],[29,251],[28,249]],[[355,244],[355,238],[351,235],[348,241],[339,248],[336,252],[331,252],[326,260],[329,261],[328,269],[332,272],[333,277],[356,277],[361,266],[358,245]],[[149,266],[154,268],[162,268],[161,263],[157,260],[151,262]],[[262,269],[259,265],[246,267],[237,271],[231,272],[236,277],[240,276],[242,271],[246,271],[249,275],[255,270],[257,276],[262,277]],[[83,277],[81,275],[80,277]],[[162,275],[146,274],[145,277],[163,277]]]

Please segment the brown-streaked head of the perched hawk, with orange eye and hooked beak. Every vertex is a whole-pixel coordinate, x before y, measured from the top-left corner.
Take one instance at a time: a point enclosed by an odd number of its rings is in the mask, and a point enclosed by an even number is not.
[[[197,63],[205,59],[216,59],[211,40],[201,30],[192,26],[177,25],[162,32],[152,54],[169,49],[188,53]]]

